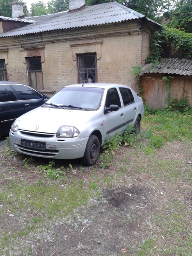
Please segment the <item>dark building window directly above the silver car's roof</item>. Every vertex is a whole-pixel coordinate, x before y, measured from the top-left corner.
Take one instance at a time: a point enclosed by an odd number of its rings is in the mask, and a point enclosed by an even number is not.
[[[97,82],[96,54],[78,54],[78,83]]]

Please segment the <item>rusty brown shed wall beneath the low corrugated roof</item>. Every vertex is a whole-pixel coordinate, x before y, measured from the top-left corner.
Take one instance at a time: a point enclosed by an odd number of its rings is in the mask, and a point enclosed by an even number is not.
[[[157,109],[167,106],[173,98],[189,100],[192,106],[192,76],[174,75],[170,86],[165,87],[164,74],[144,74],[141,78],[143,98],[150,107]]]

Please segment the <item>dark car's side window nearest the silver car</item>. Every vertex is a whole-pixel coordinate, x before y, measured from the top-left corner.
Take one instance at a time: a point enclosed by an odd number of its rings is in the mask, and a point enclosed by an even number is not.
[[[33,100],[42,98],[41,94],[28,86],[14,84],[13,88],[17,92],[21,100]]]

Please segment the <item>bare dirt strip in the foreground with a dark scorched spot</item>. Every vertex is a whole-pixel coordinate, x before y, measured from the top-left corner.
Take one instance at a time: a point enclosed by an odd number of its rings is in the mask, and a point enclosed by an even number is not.
[[[142,230],[149,228],[146,215],[154,211],[153,192],[131,185],[105,189],[103,195],[83,209],[78,222],[56,227],[50,240],[39,245],[37,255],[131,255],[128,244],[147,238]]]

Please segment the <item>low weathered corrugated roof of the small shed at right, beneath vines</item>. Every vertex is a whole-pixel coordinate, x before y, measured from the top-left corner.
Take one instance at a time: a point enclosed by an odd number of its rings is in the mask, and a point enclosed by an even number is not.
[[[162,62],[154,66],[153,63],[148,63],[142,67],[140,76],[146,73],[159,74],[178,74],[182,76],[192,75],[192,60],[179,58],[164,58]]]

